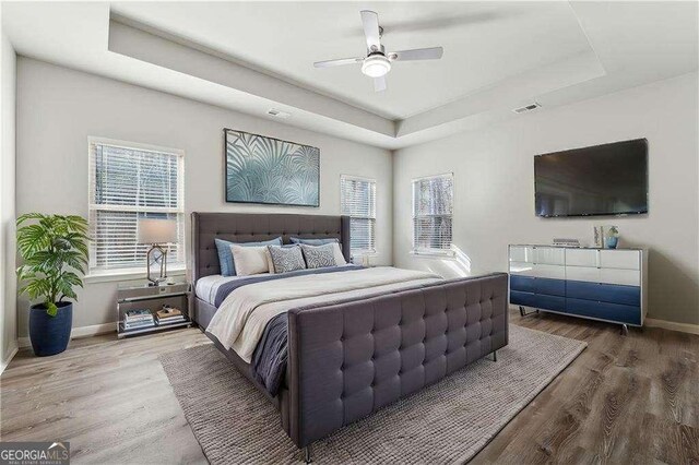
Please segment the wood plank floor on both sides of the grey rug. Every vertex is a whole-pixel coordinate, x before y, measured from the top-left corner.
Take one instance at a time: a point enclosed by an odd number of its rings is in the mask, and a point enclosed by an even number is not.
[[[699,336],[554,314],[513,324],[588,348],[472,463],[699,463]],[[209,339],[180,330],[22,350],[0,377],[2,441],[68,440],[74,463],[205,463],[158,354]]]

